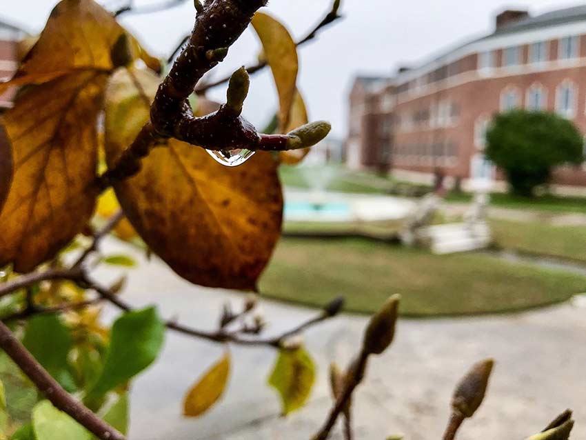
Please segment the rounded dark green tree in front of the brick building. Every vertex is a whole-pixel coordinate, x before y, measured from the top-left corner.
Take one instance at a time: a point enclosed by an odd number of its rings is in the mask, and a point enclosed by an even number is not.
[[[583,144],[574,123],[558,114],[513,110],[492,121],[486,155],[505,172],[514,194],[531,197],[554,167],[582,163]]]

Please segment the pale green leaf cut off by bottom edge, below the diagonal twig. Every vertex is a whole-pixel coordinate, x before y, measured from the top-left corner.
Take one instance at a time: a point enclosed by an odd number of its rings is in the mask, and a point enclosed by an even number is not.
[[[91,440],[92,434],[48,400],[32,409],[32,428],[37,440]]]

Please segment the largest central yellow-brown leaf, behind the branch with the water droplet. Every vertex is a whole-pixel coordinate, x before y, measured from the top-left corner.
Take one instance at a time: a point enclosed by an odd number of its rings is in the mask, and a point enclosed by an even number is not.
[[[106,93],[106,159],[116,163],[148,120],[159,79],[134,70],[114,74]],[[276,163],[259,152],[226,168],[202,148],[169,139],[142,161],[141,172],[114,186],[150,249],[181,277],[208,287],[254,289],[281,234],[283,196]]]

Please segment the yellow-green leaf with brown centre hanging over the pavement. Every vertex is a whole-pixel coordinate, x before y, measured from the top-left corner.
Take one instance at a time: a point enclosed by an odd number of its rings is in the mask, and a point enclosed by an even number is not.
[[[281,350],[269,377],[269,385],[281,396],[283,415],[305,405],[315,381],[315,365],[304,348]]]

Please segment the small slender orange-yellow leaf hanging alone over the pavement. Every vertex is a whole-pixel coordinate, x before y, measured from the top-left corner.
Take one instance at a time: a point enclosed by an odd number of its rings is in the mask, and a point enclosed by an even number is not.
[[[230,353],[205,372],[183,400],[183,415],[199,417],[216,403],[226,388],[230,375]]]

